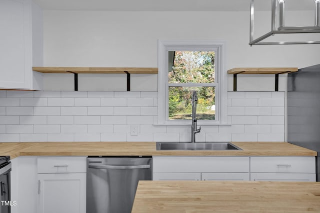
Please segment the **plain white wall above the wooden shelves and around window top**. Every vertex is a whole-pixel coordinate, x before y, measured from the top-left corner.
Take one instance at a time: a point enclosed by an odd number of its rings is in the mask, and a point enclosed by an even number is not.
[[[313,25],[313,11],[290,13],[294,22]],[[226,69],[319,63],[319,44],[250,47],[248,12],[45,10],[43,18],[44,66],[157,67],[158,39],[225,40]],[[267,12],[256,21],[269,29]],[[262,31],[255,27],[256,36]]]

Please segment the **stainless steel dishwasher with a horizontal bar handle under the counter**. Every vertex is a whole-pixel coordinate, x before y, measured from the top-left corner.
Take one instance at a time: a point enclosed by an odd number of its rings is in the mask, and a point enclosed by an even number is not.
[[[86,213],[130,213],[139,180],[152,180],[151,156],[86,161]]]

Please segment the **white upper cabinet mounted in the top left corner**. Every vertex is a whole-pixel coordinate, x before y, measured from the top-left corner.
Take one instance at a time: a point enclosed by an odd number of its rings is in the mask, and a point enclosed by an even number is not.
[[[31,0],[0,0],[0,88],[33,89],[32,60],[41,65],[43,57],[40,25],[42,13]]]

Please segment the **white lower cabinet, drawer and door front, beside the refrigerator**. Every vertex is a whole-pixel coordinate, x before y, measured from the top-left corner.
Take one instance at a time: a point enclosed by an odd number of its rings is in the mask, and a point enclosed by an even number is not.
[[[314,157],[250,157],[251,181],[315,181]]]

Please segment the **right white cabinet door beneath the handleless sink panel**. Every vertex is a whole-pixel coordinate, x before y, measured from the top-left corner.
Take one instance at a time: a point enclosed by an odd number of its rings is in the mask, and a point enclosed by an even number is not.
[[[202,181],[249,181],[249,173],[202,173]]]

